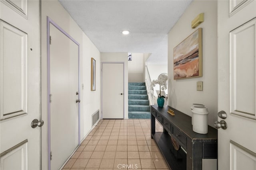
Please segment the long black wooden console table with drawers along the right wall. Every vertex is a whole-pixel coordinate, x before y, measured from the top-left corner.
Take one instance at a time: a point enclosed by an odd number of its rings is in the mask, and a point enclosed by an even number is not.
[[[174,111],[175,116],[167,113],[168,108]],[[156,132],[156,119],[163,126],[163,132]],[[176,151],[173,148],[170,135],[182,149]],[[217,129],[210,126],[207,134],[194,132],[191,117],[170,106],[151,106],[151,138],[156,141],[172,170],[204,170],[202,166],[207,167],[207,164],[216,164],[216,168],[210,169],[217,169],[217,137]]]

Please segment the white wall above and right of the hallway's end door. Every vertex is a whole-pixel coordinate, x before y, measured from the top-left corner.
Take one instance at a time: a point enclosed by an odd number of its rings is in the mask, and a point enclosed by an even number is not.
[[[124,119],[128,119],[128,53],[100,53],[101,62],[124,62]]]

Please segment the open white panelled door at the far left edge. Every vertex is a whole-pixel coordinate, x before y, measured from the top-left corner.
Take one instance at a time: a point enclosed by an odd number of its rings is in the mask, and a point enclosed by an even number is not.
[[[29,15],[28,15],[29,14]],[[0,169],[40,169],[39,1],[0,1]]]

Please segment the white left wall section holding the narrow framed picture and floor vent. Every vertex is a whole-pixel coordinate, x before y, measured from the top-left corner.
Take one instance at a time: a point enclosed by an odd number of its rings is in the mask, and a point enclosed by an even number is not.
[[[100,52],[90,39],[82,33],[81,47],[81,139],[83,139],[92,128],[92,117],[100,109]],[[96,90],[91,91],[91,57],[96,60]]]

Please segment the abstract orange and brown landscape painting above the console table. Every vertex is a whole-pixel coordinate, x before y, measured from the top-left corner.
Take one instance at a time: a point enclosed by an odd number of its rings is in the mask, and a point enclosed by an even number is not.
[[[202,76],[202,28],[173,49],[174,80]]]

